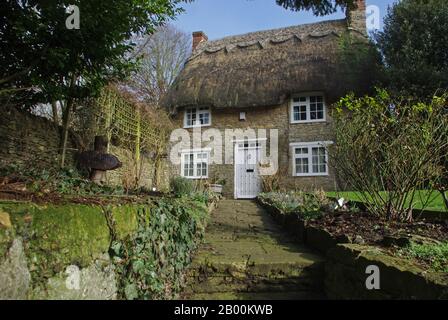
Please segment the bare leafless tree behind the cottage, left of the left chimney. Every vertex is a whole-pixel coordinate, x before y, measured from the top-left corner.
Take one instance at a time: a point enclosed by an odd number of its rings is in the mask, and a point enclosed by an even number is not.
[[[157,107],[191,53],[191,38],[168,24],[136,42],[134,55],[141,61],[138,70],[125,84],[126,90]]]

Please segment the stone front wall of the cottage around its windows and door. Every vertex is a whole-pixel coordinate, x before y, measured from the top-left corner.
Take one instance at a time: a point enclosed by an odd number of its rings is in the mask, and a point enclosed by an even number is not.
[[[246,112],[246,120],[240,121],[240,112]],[[211,126],[203,127],[203,130],[209,128],[218,129],[223,137],[225,137],[226,129],[268,129],[267,138],[268,145],[269,130],[277,129],[279,137],[279,170],[282,173],[281,184],[285,188],[298,188],[304,190],[320,189],[333,190],[336,188],[336,177],[333,168],[329,168],[328,176],[316,177],[294,177],[292,154],[290,143],[294,142],[312,142],[312,141],[334,141],[334,133],[332,130],[332,119],[329,115],[329,106],[327,106],[326,121],[319,123],[291,124],[289,119],[289,103],[274,107],[257,107],[257,108],[228,108],[228,109],[212,109]],[[184,110],[181,109],[175,115],[173,122],[175,127],[183,128]],[[187,129],[190,133],[193,129]],[[191,134],[192,136],[192,134]],[[203,143],[203,147],[209,142]],[[185,149],[191,146],[185,145]],[[223,149],[224,150],[224,149]],[[269,154],[268,154],[269,156]],[[213,177],[215,173],[226,179],[223,193],[227,197],[234,195],[234,165],[233,165],[233,148],[231,154],[226,155],[226,163],[223,165],[211,165],[209,169],[209,177]],[[230,162],[232,164],[230,164]],[[175,166],[173,174],[180,174],[180,166]]]

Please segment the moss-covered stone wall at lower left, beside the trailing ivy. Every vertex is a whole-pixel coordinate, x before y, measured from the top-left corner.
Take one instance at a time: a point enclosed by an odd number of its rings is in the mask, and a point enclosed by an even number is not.
[[[136,230],[137,209],[113,207],[118,237]],[[0,214],[0,300],[117,298],[101,207],[0,202]]]

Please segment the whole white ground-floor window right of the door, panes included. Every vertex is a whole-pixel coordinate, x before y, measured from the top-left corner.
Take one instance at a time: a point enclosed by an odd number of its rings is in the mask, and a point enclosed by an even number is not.
[[[328,153],[323,143],[294,143],[292,144],[292,151],[294,176],[328,175]]]

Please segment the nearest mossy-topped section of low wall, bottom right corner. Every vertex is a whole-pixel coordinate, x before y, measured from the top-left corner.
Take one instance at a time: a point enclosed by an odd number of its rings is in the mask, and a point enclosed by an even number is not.
[[[379,268],[380,288],[368,290],[372,265]],[[330,299],[448,299],[448,280],[378,247],[339,244],[327,252],[325,292]]]

